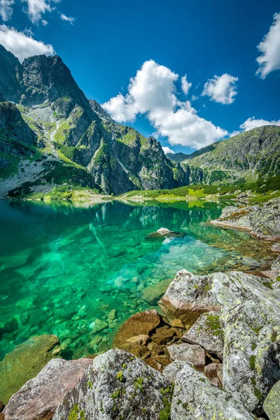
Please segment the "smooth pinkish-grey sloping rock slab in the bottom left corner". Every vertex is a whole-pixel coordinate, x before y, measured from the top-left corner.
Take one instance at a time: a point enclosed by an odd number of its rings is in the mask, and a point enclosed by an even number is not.
[[[50,360],[34,379],[10,398],[5,420],[51,419],[60,402],[92,365],[90,359]]]

